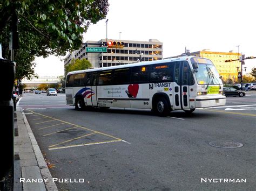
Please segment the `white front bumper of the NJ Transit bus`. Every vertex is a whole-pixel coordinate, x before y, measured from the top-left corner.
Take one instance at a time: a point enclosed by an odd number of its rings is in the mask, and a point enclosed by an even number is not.
[[[217,107],[225,104],[226,104],[225,96],[196,98],[196,108],[210,108],[210,107]]]

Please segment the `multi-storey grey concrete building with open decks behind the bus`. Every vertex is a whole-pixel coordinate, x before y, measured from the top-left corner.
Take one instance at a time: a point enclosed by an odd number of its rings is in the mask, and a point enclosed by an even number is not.
[[[86,52],[86,47],[105,47],[106,39],[99,41],[86,41],[82,48],[73,53],[69,53],[64,60],[65,66],[72,59],[87,59],[95,68],[125,65],[141,61],[152,61],[163,59],[163,43],[157,39],[149,41],[133,41],[133,40],[114,40],[108,41],[123,42],[123,48],[107,48],[106,53],[89,53]],[[94,44],[94,45],[93,45]],[[103,44],[103,45],[99,45]]]

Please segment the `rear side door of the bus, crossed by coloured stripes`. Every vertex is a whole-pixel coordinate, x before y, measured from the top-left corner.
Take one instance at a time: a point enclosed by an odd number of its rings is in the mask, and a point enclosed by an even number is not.
[[[86,77],[86,105],[97,107],[97,86],[96,86],[96,72],[87,73]]]

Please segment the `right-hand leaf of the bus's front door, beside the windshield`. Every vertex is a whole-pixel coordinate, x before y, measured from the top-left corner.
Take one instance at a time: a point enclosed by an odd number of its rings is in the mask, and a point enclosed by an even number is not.
[[[190,67],[187,61],[181,62],[181,75],[180,75],[180,100],[181,100],[181,109],[187,110],[190,109],[190,87],[189,87],[189,77],[190,77]]]

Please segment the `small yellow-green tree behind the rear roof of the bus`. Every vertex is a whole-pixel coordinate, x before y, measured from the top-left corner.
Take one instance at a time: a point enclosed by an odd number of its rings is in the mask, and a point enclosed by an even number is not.
[[[88,69],[91,67],[92,67],[92,64],[90,63],[90,61],[88,61],[86,59],[82,59],[82,60],[79,60],[79,59],[74,60],[73,59],[69,65],[65,66],[65,76],[69,72],[72,72],[75,70]]]

